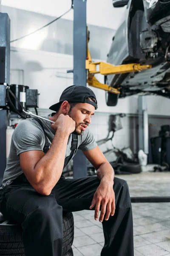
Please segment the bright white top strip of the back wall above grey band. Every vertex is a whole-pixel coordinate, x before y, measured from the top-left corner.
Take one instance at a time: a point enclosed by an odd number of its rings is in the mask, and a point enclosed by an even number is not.
[[[58,17],[70,9],[71,0],[2,0],[2,5]],[[113,8],[112,0],[87,0],[87,23],[117,29],[125,8]],[[63,18],[73,20],[73,10]]]

